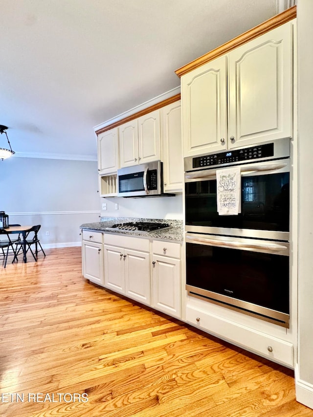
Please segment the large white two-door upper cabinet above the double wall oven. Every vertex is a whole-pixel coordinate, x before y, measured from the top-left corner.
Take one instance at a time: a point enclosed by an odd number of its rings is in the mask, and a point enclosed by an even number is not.
[[[186,73],[181,95],[184,156],[291,137],[292,23]]]

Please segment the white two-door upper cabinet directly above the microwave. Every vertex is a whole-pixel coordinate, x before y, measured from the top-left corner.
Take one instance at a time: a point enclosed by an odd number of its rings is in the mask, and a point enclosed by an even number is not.
[[[160,159],[159,110],[125,123],[118,130],[121,167],[130,167]]]

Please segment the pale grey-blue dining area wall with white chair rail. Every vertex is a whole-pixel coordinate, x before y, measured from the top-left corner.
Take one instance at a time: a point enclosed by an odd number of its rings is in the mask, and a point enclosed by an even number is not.
[[[13,156],[0,161],[0,210],[10,223],[41,224],[45,247],[77,245],[80,224],[99,220],[97,185],[97,162]]]

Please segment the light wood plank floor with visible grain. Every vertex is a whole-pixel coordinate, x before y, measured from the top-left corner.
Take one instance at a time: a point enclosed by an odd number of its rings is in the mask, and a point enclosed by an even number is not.
[[[313,416],[291,370],[89,284],[80,248],[46,255],[0,264],[1,416]]]

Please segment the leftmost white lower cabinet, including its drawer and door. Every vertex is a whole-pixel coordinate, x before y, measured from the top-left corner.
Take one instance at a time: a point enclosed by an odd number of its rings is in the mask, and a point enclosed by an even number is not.
[[[89,281],[104,285],[102,233],[83,230],[83,275]]]

